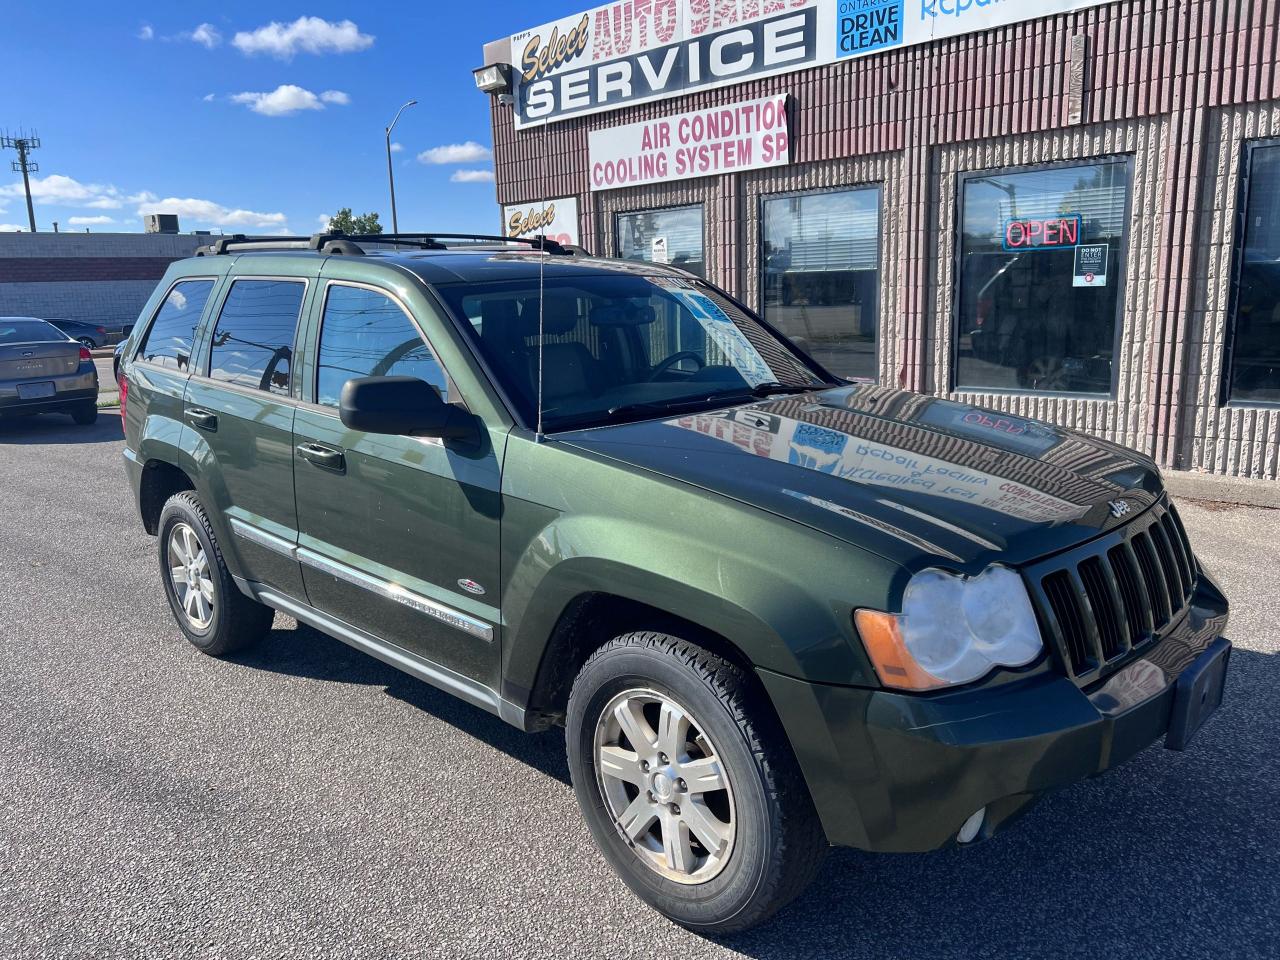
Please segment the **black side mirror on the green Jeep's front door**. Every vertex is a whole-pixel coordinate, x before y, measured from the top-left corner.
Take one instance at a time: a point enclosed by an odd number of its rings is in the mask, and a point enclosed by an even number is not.
[[[416,376],[347,380],[338,412],[344,426],[369,434],[454,439],[472,433],[471,416]]]

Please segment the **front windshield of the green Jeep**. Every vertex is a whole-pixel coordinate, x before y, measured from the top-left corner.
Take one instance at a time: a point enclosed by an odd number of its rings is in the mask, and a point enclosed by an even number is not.
[[[526,424],[538,422],[538,280],[439,288]],[[721,293],[672,276],[548,279],[543,425],[563,430],[828,381]]]

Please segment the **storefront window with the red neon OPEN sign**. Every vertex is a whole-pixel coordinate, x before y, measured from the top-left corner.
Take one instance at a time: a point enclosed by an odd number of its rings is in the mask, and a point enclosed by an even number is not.
[[[1111,393],[1125,160],[961,180],[957,388]]]

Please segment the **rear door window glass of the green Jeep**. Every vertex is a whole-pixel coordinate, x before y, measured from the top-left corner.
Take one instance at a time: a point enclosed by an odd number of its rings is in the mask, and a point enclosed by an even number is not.
[[[306,284],[297,280],[236,280],[218,316],[209,376],[288,394],[303,293]]]

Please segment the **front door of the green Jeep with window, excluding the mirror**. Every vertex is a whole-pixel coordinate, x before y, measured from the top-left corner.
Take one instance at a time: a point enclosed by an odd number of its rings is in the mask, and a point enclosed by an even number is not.
[[[311,604],[470,680],[497,686],[499,460],[488,433],[442,443],[349,430],[347,380],[417,376],[451,402],[425,301],[330,280],[293,422],[298,559]],[[502,443],[503,434],[498,434]]]

